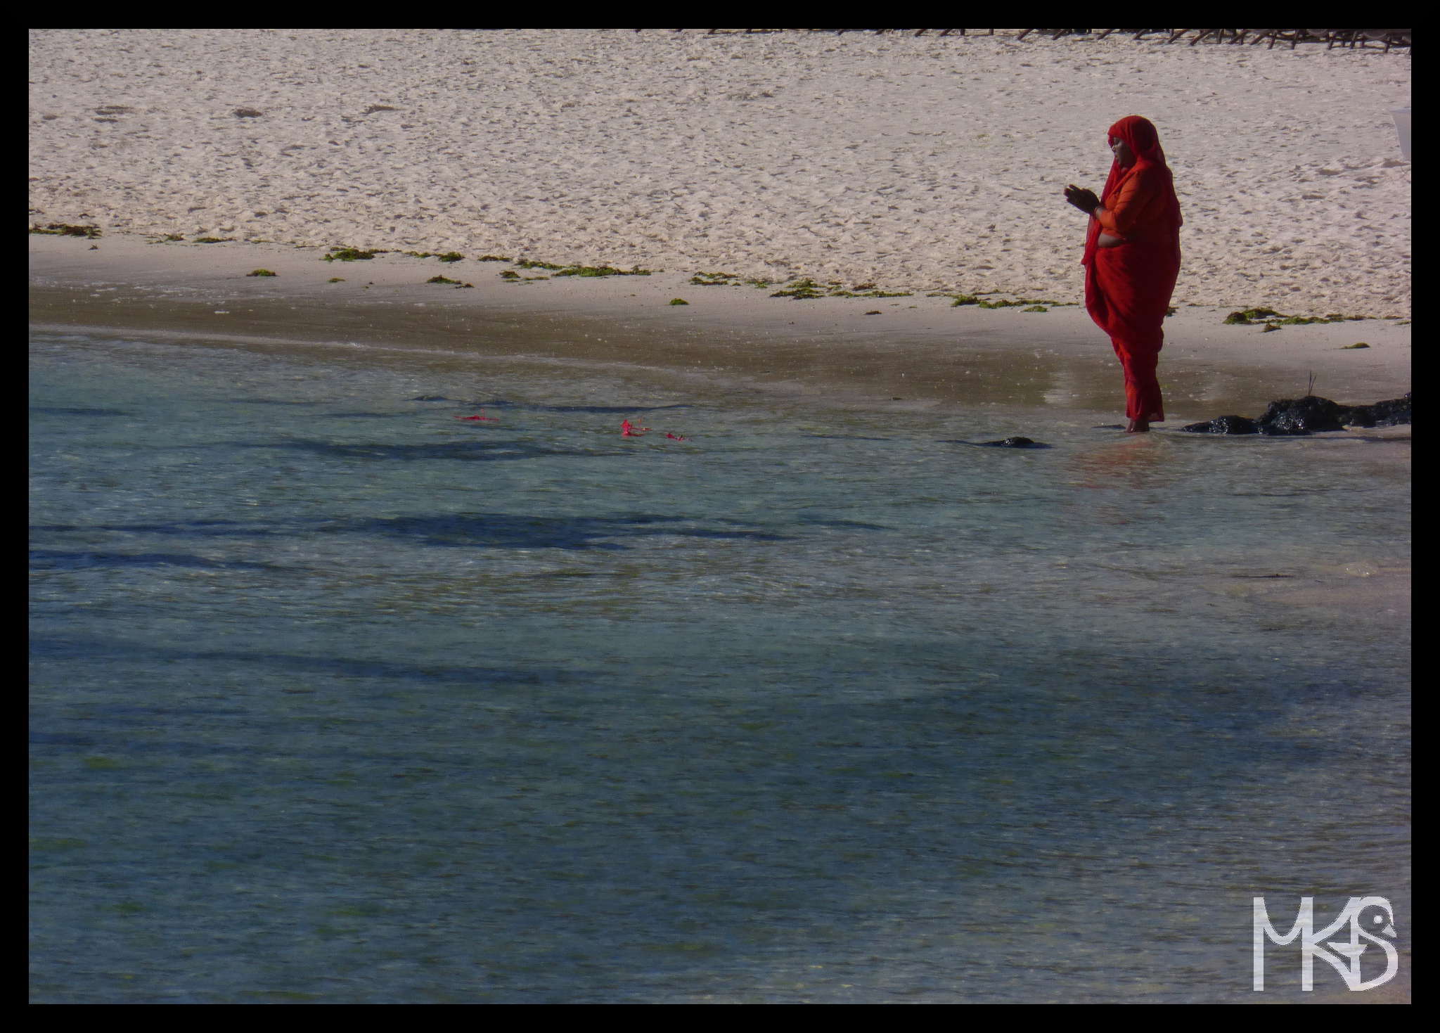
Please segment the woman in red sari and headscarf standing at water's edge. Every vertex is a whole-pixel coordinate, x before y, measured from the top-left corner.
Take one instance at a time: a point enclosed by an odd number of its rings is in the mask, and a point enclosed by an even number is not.
[[[1155,379],[1162,324],[1179,275],[1179,200],[1155,127],[1139,115],[1110,127],[1115,163],[1104,192],[1071,184],[1066,200],[1090,215],[1084,242],[1084,305],[1110,334],[1125,367],[1128,434],[1165,419]]]

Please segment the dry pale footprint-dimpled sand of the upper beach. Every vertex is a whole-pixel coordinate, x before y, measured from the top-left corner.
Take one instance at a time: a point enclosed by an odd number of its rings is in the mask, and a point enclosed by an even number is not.
[[[1178,305],[1408,316],[1408,52],[1014,33],[32,30],[29,220],[1076,301],[1143,114]]]

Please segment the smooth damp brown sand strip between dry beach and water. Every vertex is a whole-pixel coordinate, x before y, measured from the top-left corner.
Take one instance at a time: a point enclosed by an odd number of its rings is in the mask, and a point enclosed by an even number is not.
[[[793,300],[667,272],[507,281],[508,264],[474,259],[325,262],[318,248],[269,243],[29,239],[30,321],[42,326],[615,363],[837,403],[1123,413],[1119,365],[1076,304],[1027,313],[924,294]],[[256,268],[276,275],[246,275]],[[428,284],[435,275],[472,287]],[[1264,333],[1224,317],[1223,308],[1179,308],[1166,324],[1169,428],[1256,416],[1272,399],[1306,393],[1312,375],[1315,393],[1344,403],[1410,390],[1408,323]],[[1346,347],[1358,341],[1369,347]],[[1408,438],[1410,428],[1380,434],[1401,431]]]

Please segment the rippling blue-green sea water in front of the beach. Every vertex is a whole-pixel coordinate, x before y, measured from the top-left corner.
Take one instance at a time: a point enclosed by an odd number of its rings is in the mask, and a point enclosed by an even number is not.
[[[1254,591],[1408,563],[1374,444],[30,356],[33,1001],[1300,1000],[1302,895],[1408,978],[1408,621]]]

